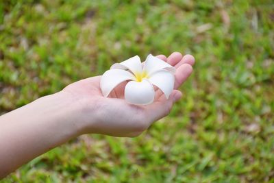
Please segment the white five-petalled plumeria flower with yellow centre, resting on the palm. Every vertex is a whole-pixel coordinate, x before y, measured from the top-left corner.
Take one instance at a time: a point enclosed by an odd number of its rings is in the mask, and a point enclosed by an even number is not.
[[[134,56],[119,64],[113,64],[101,77],[101,90],[104,97],[121,82],[130,80],[125,86],[125,100],[128,103],[147,105],[154,101],[157,86],[166,99],[171,95],[175,81],[175,68],[159,58],[149,55],[142,64]]]

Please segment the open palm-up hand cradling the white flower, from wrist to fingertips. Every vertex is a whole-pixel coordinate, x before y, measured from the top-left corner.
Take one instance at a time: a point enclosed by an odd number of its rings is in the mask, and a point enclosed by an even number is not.
[[[108,98],[103,97],[100,88],[101,76],[90,77],[66,86],[62,93],[70,95],[75,105],[81,108],[78,123],[83,124],[83,133],[108,134],[111,136],[138,136],[158,119],[165,117],[171,111],[173,103],[182,97],[177,90],[192,73],[195,58],[182,56],[174,52],[166,58],[158,58],[175,66],[175,90],[169,99],[156,88],[155,101],[147,106],[129,104],[123,99],[126,82],[117,86]]]

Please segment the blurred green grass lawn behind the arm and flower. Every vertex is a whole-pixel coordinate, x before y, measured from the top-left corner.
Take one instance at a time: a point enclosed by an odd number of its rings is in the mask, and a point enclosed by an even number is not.
[[[0,114],[114,62],[196,58],[169,117],[86,135],[3,182],[274,182],[273,1],[0,1]]]

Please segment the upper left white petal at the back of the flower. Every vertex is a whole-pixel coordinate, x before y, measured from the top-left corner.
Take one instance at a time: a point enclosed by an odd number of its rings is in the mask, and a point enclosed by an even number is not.
[[[139,56],[134,56],[121,63],[113,64],[110,69],[128,69],[132,73],[142,73],[142,63]]]

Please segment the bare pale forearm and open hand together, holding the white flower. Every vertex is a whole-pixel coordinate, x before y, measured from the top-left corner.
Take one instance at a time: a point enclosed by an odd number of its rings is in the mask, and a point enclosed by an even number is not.
[[[158,58],[175,66],[175,88],[169,99],[156,89],[155,102],[135,106],[123,99],[125,83],[105,98],[101,76],[66,86],[0,117],[0,179],[37,156],[82,134],[134,137],[169,114],[182,97],[177,90],[192,73],[193,56],[174,52]]]

